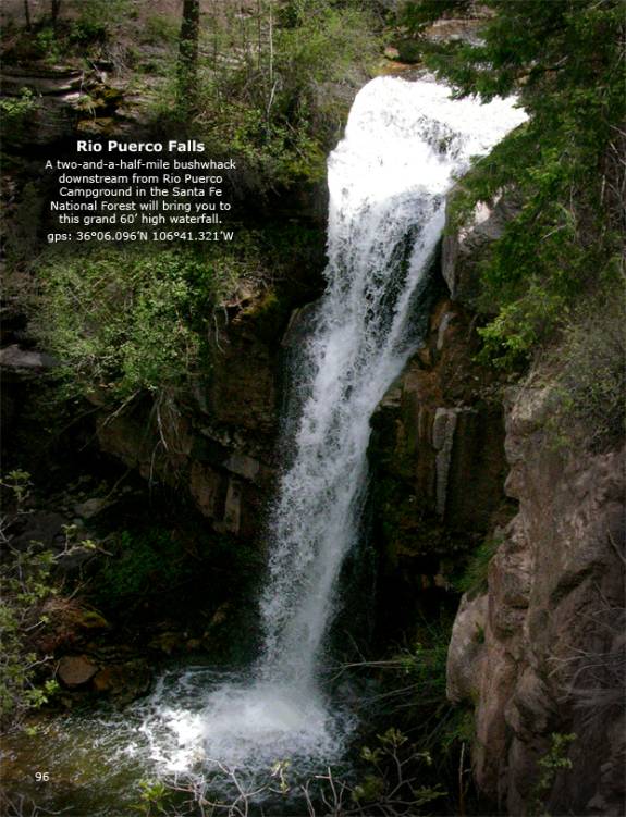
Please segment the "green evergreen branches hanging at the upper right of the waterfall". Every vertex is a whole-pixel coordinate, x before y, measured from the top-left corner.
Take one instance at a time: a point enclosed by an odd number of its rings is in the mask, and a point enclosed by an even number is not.
[[[447,7],[412,2],[416,36]],[[431,67],[458,97],[517,92],[529,121],[481,159],[456,203],[462,223],[477,201],[521,202],[481,269],[483,360],[515,369],[561,329],[566,310],[599,282],[619,285],[625,113],[617,0],[488,0],[478,46],[424,44]]]

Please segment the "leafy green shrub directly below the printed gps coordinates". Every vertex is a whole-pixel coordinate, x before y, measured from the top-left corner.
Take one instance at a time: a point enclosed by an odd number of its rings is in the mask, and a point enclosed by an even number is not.
[[[219,251],[48,253],[33,330],[79,391],[114,401],[176,387],[196,370],[212,309],[240,265]]]

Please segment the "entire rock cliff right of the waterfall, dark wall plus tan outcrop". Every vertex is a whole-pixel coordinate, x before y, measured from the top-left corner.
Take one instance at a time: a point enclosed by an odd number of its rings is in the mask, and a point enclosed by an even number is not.
[[[478,787],[512,815],[617,815],[623,453],[556,450],[550,387],[531,375],[505,389],[472,362],[477,264],[513,211],[483,208],[444,239],[447,296],[375,418],[378,543],[398,609],[446,586],[456,553],[500,543],[449,653],[449,697],[475,708]]]

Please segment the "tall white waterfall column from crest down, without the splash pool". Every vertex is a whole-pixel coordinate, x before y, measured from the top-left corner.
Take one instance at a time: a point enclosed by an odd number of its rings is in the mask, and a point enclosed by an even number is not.
[[[379,78],[357,96],[329,159],[328,289],[273,512],[261,614],[263,676],[311,690],[354,544],[369,421],[415,341],[412,305],[441,234],[444,196],[469,157],[523,121],[508,101],[453,101],[442,85]]]

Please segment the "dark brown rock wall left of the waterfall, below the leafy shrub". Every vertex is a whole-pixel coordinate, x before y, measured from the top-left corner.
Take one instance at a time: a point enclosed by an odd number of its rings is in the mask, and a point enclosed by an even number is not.
[[[130,411],[103,409],[98,419],[102,450],[188,495],[218,533],[255,540],[262,528],[277,473],[280,342],[289,311],[285,320],[268,321],[254,301],[237,308],[219,321],[206,376],[187,394]]]

